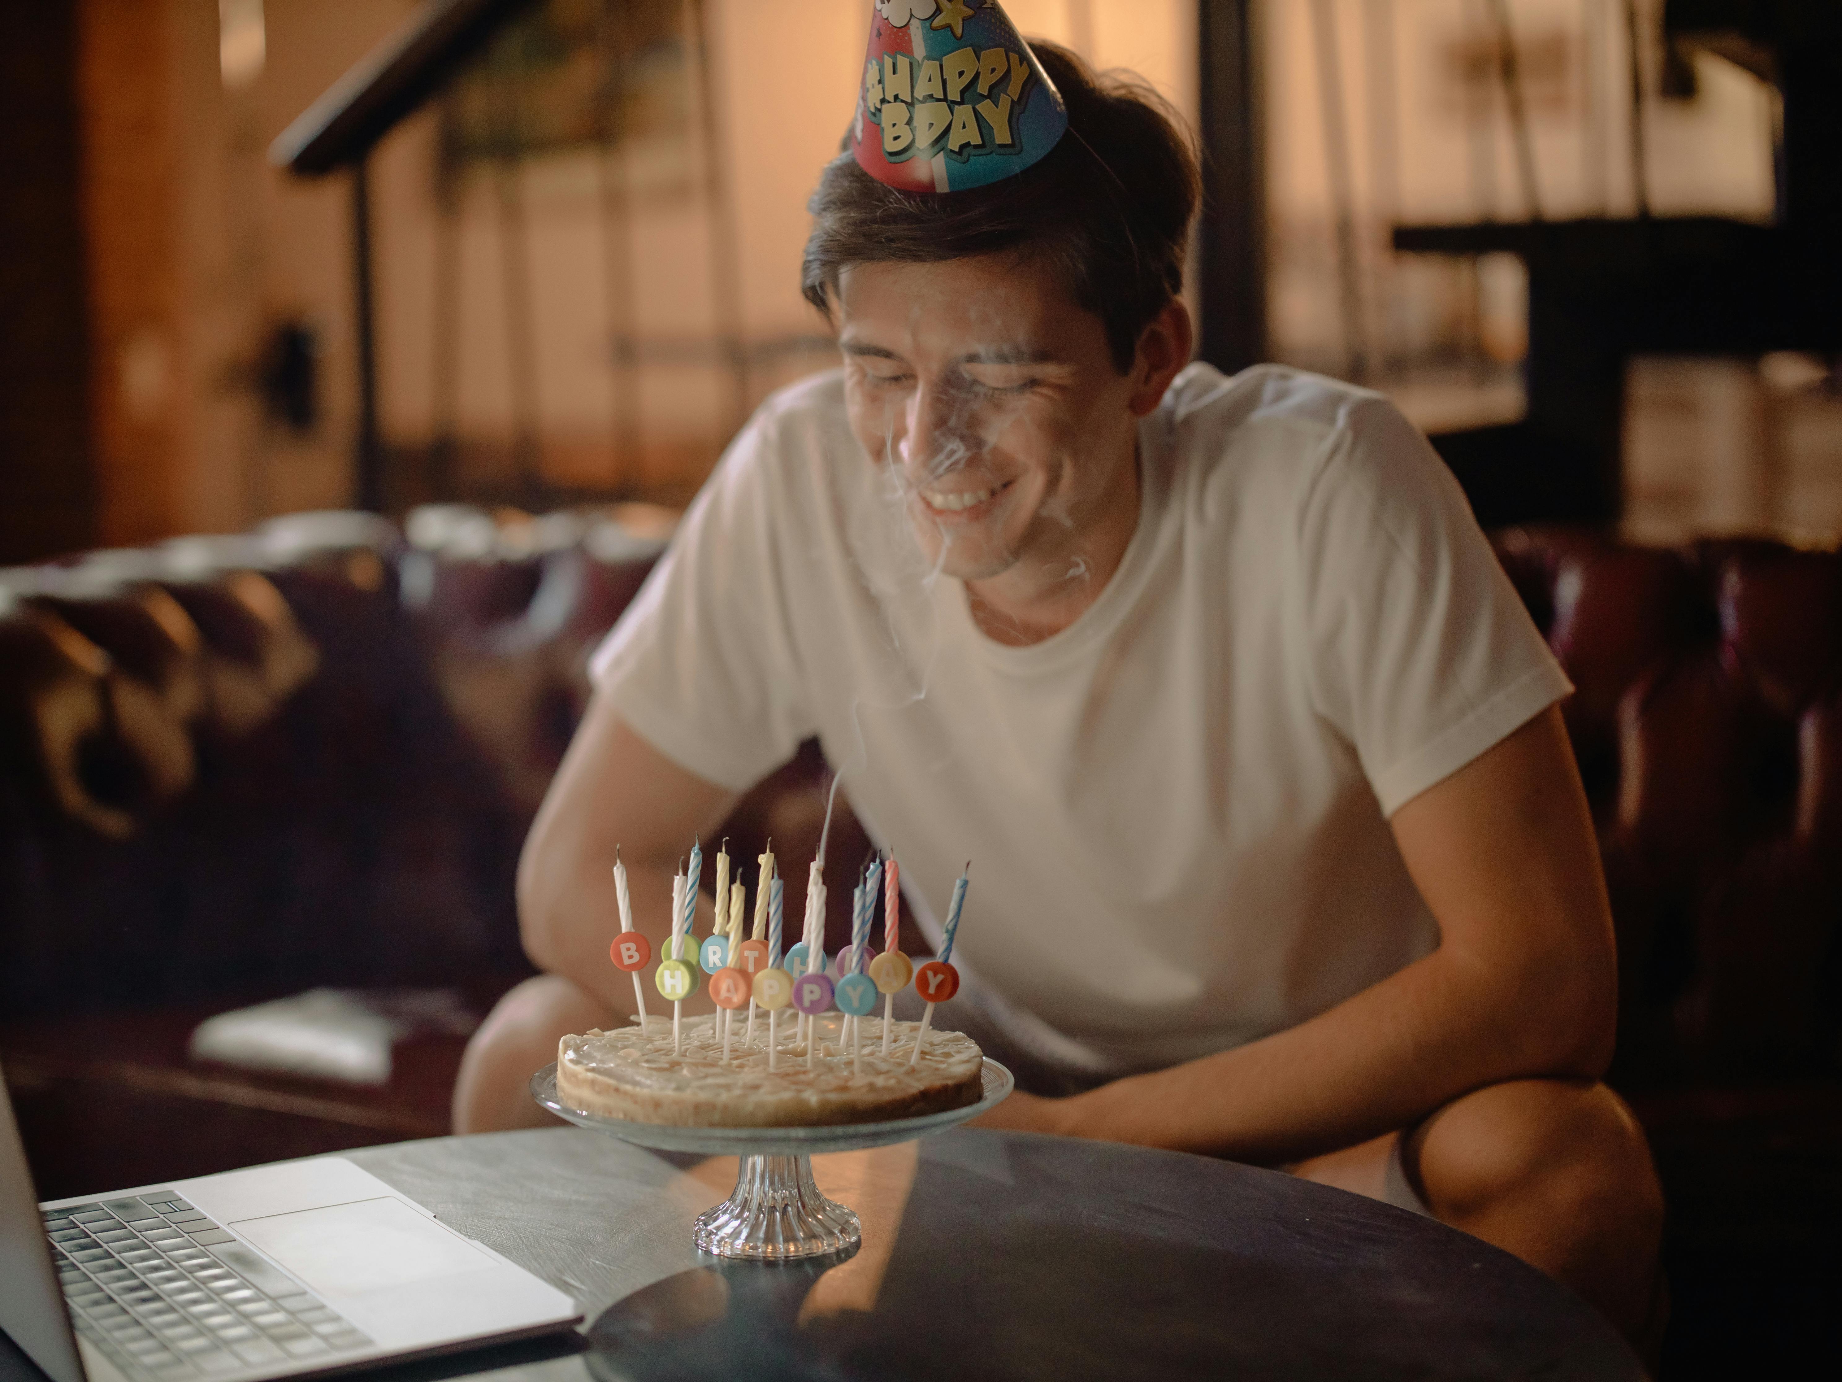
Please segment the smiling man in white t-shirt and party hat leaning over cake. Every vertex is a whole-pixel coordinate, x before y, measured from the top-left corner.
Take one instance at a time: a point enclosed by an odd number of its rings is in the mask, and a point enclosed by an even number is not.
[[[932,936],[976,859],[980,1036],[1061,1095],[987,1122],[1393,1200],[1654,1334],[1566,678],[1382,398],[1186,367],[1197,175],[1153,100],[1020,41],[998,90],[973,44],[962,94],[1013,96],[974,133],[1022,147],[921,158],[949,114],[897,107],[952,77],[923,7],[873,24],[812,199],[844,370],[768,400],[599,654],[519,873],[547,973],[475,1037],[457,1124],[532,1120],[556,1039],[630,1010],[615,844],[658,940],[693,833],[818,733]]]

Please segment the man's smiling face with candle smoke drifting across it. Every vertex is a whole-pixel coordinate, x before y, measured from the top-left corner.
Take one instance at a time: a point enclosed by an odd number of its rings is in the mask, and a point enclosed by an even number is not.
[[[1087,533],[1137,498],[1133,380],[1100,317],[1009,256],[866,264],[836,300],[851,429],[928,562],[1078,577]]]

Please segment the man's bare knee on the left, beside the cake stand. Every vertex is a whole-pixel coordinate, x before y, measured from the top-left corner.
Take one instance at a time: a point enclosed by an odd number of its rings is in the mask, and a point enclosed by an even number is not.
[[[530,1102],[530,1076],[556,1060],[556,1043],[571,1032],[619,1021],[608,1004],[567,978],[527,978],[494,1004],[466,1043],[455,1080],[455,1131],[492,1133],[556,1122]]]

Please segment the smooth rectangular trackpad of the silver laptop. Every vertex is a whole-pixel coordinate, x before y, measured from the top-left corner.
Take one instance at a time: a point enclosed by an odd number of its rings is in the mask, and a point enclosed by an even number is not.
[[[309,1290],[326,1297],[409,1286],[495,1266],[402,1200],[357,1200],[230,1225]]]

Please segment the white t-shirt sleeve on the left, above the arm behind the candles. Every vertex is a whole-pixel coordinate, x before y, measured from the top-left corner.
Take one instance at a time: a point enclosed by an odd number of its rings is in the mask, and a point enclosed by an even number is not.
[[[787,459],[757,415],[589,663],[641,739],[735,792],[812,733],[777,560]]]

